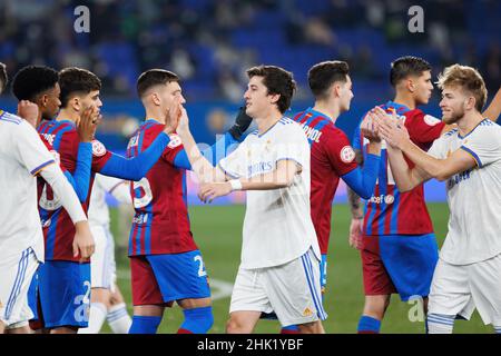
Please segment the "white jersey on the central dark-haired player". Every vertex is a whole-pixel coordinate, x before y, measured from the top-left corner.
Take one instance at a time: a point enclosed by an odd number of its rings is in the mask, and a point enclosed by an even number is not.
[[[282,118],[266,132],[248,135],[219,167],[233,178],[250,178],[275,170],[279,160],[294,160],[301,174],[288,188],[248,190],[242,268],[283,265],[311,247],[320,248],[310,216],[310,145],[299,125]]]

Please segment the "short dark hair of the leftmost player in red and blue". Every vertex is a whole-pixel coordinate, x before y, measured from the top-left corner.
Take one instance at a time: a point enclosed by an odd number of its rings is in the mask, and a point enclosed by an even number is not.
[[[88,95],[101,89],[101,80],[91,71],[77,67],[65,68],[59,72],[61,106],[66,107],[71,95]]]

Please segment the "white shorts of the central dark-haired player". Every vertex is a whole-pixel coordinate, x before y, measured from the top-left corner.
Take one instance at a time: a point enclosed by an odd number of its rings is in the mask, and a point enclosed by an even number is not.
[[[320,263],[312,249],[281,266],[239,268],[229,313],[275,312],[283,326],[324,320]]]

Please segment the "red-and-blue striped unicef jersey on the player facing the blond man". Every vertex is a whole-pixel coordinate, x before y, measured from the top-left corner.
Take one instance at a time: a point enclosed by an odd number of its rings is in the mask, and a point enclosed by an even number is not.
[[[403,105],[389,101],[381,105],[386,112],[395,110],[397,117],[404,121],[411,140],[421,149],[428,150],[438,139],[445,123],[425,115],[420,109],[410,110]],[[366,156],[367,139],[355,131],[353,147]],[[406,159],[412,168],[414,164]],[[419,185],[405,192],[399,191],[390,169],[385,142],[381,150],[380,172],[373,196],[365,205],[365,235],[422,235],[433,233],[433,226],[424,202],[424,188]]]

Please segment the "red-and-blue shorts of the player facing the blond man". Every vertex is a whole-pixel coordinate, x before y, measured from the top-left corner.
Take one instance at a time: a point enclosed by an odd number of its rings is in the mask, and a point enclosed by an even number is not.
[[[439,260],[434,234],[364,236],[361,254],[365,295],[399,293],[406,301],[430,294]]]

